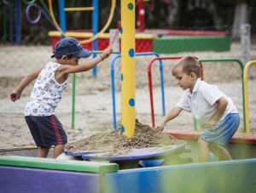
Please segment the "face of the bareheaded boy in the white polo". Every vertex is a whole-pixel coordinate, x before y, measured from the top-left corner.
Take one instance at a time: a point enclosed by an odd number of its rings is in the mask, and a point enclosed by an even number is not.
[[[183,88],[183,90],[190,89],[190,91],[193,91],[193,88],[195,86],[195,74],[191,72],[189,75],[185,73],[182,69],[182,67],[177,67],[177,69],[173,73],[173,77],[176,78],[177,84]]]

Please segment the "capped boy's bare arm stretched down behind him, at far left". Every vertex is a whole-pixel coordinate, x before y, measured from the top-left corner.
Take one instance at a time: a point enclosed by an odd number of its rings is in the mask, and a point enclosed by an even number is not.
[[[26,86],[32,82],[33,80],[35,80],[40,71],[43,70],[44,67],[39,68],[36,71],[32,71],[32,73],[30,73],[29,75],[27,75],[19,84],[19,86],[9,94],[9,99],[11,99],[12,101],[15,102],[16,99],[20,99],[20,94],[22,93],[22,91],[24,90],[24,88],[26,88]]]

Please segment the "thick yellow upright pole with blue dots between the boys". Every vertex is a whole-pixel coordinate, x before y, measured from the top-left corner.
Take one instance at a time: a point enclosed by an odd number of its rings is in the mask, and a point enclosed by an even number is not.
[[[135,131],[135,0],[121,1],[121,131]]]

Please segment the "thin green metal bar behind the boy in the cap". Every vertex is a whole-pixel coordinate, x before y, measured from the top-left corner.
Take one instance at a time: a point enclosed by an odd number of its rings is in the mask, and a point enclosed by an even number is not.
[[[93,51],[93,54],[102,54],[103,51]],[[120,54],[119,51],[113,51],[112,54]],[[71,118],[71,128],[74,128],[74,119],[75,119],[75,93],[76,93],[76,75],[73,74],[72,82],[72,118]]]

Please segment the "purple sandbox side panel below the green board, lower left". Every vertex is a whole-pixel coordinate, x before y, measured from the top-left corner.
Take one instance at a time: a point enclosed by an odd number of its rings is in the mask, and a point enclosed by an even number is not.
[[[100,173],[0,166],[0,192],[102,192]]]

